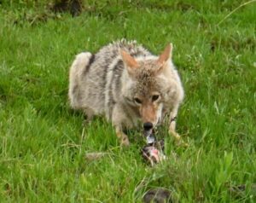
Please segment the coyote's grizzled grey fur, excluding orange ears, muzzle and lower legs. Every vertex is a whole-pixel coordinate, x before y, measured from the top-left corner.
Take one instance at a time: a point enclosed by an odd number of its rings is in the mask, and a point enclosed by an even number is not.
[[[131,55],[143,68],[131,75],[120,50]],[[89,117],[94,114],[106,116],[119,132],[137,125],[141,119],[134,96],[143,96],[148,101],[148,96],[157,91],[163,103],[160,111],[164,114],[174,109],[173,116],[176,116],[183,100],[183,87],[171,59],[168,61],[170,69],[156,75],[157,58],[136,41],[125,39],[104,46],[95,55],[89,52],[77,55],[69,76],[71,106],[84,110]]]

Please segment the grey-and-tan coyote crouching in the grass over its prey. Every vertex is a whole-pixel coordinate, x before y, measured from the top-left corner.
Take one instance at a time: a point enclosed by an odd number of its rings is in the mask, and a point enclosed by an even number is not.
[[[183,95],[172,63],[172,44],[156,56],[136,41],[122,39],[96,54],[80,53],[70,68],[71,107],[83,110],[88,119],[106,116],[122,145],[129,145],[125,129],[141,122],[160,125],[166,113],[170,113],[169,132],[179,139],[175,119]]]

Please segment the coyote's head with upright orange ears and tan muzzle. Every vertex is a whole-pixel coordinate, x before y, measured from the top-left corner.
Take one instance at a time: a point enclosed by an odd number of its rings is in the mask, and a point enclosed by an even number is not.
[[[121,50],[125,72],[122,91],[125,104],[130,105],[143,124],[160,124],[164,114],[177,102],[177,79],[172,65],[172,44],[160,56],[137,58]]]

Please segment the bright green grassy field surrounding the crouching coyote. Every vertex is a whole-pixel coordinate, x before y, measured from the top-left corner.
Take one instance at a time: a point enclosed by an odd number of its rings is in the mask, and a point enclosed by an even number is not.
[[[256,2],[236,9],[246,2],[87,1],[73,17],[0,1],[0,202],[142,202],[157,187],[180,202],[255,202]],[[119,38],[155,54],[174,44],[186,93],[177,131],[189,148],[166,136],[169,159],[155,167],[140,131],[120,148],[104,118],[84,126],[68,105],[74,55]]]

